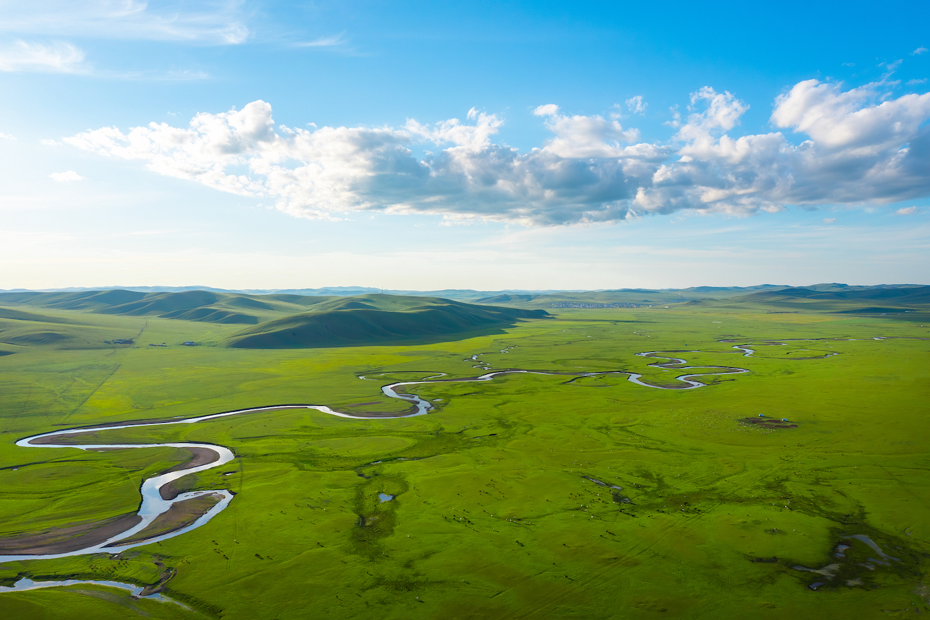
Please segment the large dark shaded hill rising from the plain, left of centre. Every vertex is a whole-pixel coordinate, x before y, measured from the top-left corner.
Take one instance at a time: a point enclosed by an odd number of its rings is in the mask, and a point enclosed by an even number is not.
[[[239,331],[227,341],[236,348],[312,348],[347,344],[430,340],[476,330],[500,329],[543,310],[522,310],[435,297],[363,295],[318,304],[312,312],[280,318]]]

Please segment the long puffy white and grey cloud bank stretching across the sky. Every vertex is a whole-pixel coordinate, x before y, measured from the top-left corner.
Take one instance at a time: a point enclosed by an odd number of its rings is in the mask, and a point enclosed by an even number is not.
[[[793,142],[778,130],[731,138],[748,109],[701,88],[671,140],[650,143],[618,120],[563,115],[549,103],[534,115],[552,138],[528,153],[494,142],[501,119],[474,109],[464,123],[275,130],[265,101],[196,115],[187,128],[100,128],[64,142],[309,218],[384,211],[551,225],[930,195],[930,93],[893,99],[882,84],[800,82],[770,119],[798,134]]]

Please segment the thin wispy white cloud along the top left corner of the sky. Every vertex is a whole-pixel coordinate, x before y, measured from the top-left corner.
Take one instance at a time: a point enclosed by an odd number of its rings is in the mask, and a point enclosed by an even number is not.
[[[243,43],[242,0],[155,3],[140,0],[30,0],[0,3],[0,32],[109,39]]]

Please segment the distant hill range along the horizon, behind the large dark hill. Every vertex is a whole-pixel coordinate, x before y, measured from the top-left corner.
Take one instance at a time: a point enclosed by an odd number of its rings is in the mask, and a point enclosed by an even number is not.
[[[618,289],[591,291],[507,291],[486,295],[476,290],[444,290],[443,295],[415,295],[365,292],[345,293],[352,287],[314,289],[339,294],[298,294],[294,292],[244,293],[223,290],[140,291],[125,289],[81,291],[5,291],[0,292],[0,304],[36,306],[57,310],[78,310],[129,317],[163,317],[209,323],[258,325],[307,312],[334,310],[386,310],[390,300],[419,300],[419,303],[471,303],[511,308],[635,308],[639,306],[697,303],[821,303],[824,308],[835,306],[837,312],[883,312],[887,304],[892,309],[930,303],[930,287],[923,285],[851,286],[840,283],[815,284],[807,287],[786,287],[763,284],[754,287],[692,287],[690,289]],[[458,298],[452,293],[459,295]],[[379,300],[372,306],[372,300]],[[342,306],[346,300],[360,304],[355,308]],[[362,301],[360,301],[362,300]],[[367,300],[367,301],[364,301]],[[865,305],[863,305],[865,304]],[[407,303],[409,306],[410,303]],[[414,304],[415,305],[415,304]],[[408,307],[394,308],[407,311]],[[855,307],[854,307],[855,306]]]

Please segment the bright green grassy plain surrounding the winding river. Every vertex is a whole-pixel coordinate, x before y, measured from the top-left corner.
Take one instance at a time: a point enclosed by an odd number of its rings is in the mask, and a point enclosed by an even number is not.
[[[930,341],[917,340],[930,338],[923,327],[930,317],[919,313],[771,314],[712,304],[565,310],[455,342],[247,350],[219,346],[237,326],[34,312],[72,322],[52,330],[28,317],[5,320],[19,321],[20,335],[67,330],[73,338],[2,345],[10,355],[0,357],[0,536],[131,512],[140,480],[180,458],[167,449],[14,445],[58,427],[281,403],[400,411],[396,402],[362,403],[385,401],[379,388],[392,380],[437,371],[473,376],[480,372],[473,354],[495,370],[624,370],[660,384],[673,384],[680,372],[649,368],[656,360],[635,354],[688,351],[677,357],[690,366],[751,372],[708,377],[708,387],[684,391],[622,376],[509,375],[421,385],[415,391],[437,409],[417,418],[290,410],[144,434],[113,431],[113,441],[183,438],[231,448],[233,463],[182,481],[237,496],[206,526],[163,543],[116,558],[8,562],[0,580],[148,585],[159,579],[157,559],[177,569],[166,595],[193,611],[72,586],[0,594],[4,617],[887,618],[930,611],[923,598],[930,595],[923,587]],[[137,334],[136,345],[100,344]],[[877,336],[894,338],[834,340]],[[718,342],[728,339],[735,342]],[[186,340],[204,345],[176,345]],[[78,341],[83,348],[64,348]],[[758,344],[754,357],[731,348],[748,343]],[[798,427],[739,422],[759,414]],[[379,493],[395,498],[380,502]],[[899,561],[870,561],[875,552],[852,534],[870,536]],[[841,542],[850,548],[837,559]],[[832,580],[792,568],[830,563],[841,564]],[[815,581],[826,585],[812,590]]]

